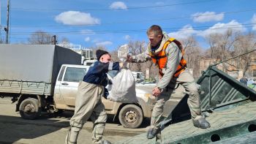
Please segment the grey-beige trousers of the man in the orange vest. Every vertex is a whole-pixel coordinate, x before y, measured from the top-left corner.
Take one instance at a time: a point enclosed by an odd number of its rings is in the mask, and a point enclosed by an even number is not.
[[[187,104],[189,105],[192,118],[194,119],[197,115],[201,115],[200,94],[198,93],[197,84],[195,83],[194,78],[190,72],[185,70],[177,78],[173,78],[170,81],[168,86],[172,88],[168,88],[168,91],[164,89],[162,93],[157,97],[157,103],[154,105],[154,109],[151,115],[151,126],[156,127],[157,124],[161,122],[165,102],[170,99],[176,83],[183,86],[186,93],[189,94]]]

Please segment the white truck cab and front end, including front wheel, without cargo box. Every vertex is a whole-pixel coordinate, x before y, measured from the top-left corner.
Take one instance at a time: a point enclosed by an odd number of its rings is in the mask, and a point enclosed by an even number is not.
[[[56,80],[56,86],[53,94],[53,102],[56,110],[75,110],[75,96],[78,92],[78,85],[83,76],[88,72],[89,66],[64,64],[59,71]],[[118,72],[110,71],[108,73],[109,85],[111,91],[111,80]],[[124,127],[137,128],[142,124],[144,118],[151,117],[154,100],[150,99],[153,86],[136,86],[136,96],[138,103],[124,104],[113,102],[102,97],[102,103],[105,105],[107,114],[115,115]]]

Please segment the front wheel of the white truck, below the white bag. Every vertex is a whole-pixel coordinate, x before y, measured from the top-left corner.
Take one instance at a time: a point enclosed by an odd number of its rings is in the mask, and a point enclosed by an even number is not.
[[[137,105],[125,105],[118,115],[121,125],[127,128],[138,128],[143,121],[143,112]]]

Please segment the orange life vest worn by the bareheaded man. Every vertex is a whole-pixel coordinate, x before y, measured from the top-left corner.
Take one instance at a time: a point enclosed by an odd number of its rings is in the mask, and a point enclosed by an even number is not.
[[[167,63],[167,56],[165,53],[165,49],[171,42],[174,42],[176,43],[176,45],[178,45],[178,48],[179,50],[181,50],[181,54],[182,54],[181,61],[179,62],[178,68],[176,72],[173,74],[173,77],[178,77],[178,75],[180,75],[181,72],[184,72],[184,70],[187,67],[187,61],[183,57],[184,49],[182,48],[181,42],[178,42],[178,40],[174,38],[170,38],[167,40],[167,42],[165,42],[165,45],[163,46],[162,50],[160,50],[157,55],[154,55],[154,53],[152,53],[151,50],[149,50],[149,56],[151,56],[152,61],[159,68],[159,75],[161,75],[161,77],[164,75],[164,73],[162,72],[162,69],[165,68]]]

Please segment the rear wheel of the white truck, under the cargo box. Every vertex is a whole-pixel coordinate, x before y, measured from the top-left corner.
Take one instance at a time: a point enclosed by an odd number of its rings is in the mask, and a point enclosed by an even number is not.
[[[24,119],[35,119],[40,115],[39,101],[34,98],[24,99],[20,103],[20,115]]]

